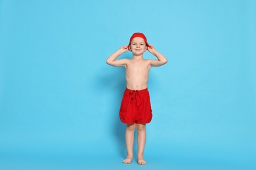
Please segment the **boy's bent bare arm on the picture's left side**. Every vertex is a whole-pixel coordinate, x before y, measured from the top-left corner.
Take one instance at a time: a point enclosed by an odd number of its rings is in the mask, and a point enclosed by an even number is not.
[[[119,50],[114,52],[111,56],[108,57],[108,59],[106,59],[106,63],[108,63],[109,65],[112,65],[112,66],[116,66],[116,67],[117,66],[125,66],[128,59],[117,59],[117,57],[120,56],[121,54],[123,54],[124,52],[127,52],[127,50],[128,50],[127,46],[121,46],[121,48]]]

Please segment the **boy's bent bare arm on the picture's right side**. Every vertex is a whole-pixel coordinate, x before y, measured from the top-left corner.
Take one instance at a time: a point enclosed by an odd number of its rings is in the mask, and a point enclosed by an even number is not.
[[[163,54],[161,54],[160,52],[158,52],[154,46],[150,45],[150,47],[148,47],[148,51],[150,53],[152,53],[154,56],[156,56],[156,58],[158,58],[158,60],[156,59],[150,59],[150,65],[152,67],[158,67],[161,65],[164,65],[165,63],[167,63],[167,58],[165,58],[165,56],[163,56]]]

